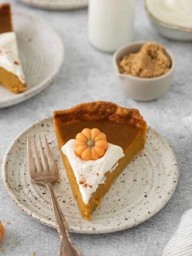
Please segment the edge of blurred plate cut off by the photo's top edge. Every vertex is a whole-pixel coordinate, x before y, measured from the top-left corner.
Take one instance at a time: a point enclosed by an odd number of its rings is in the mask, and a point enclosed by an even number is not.
[[[73,10],[87,6],[88,0],[18,0],[41,9]]]

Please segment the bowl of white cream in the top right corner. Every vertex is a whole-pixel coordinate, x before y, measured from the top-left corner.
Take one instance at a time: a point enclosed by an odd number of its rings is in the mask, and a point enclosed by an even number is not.
[[[192,40],[191,0],[145,0],[149,20],[167,38]]]

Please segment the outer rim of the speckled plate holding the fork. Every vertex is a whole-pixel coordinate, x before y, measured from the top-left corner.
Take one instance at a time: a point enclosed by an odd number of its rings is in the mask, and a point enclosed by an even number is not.
[[[5,187],[7,189],[7,192],[8,194],[11,196],[11,198],[13,199],[13,201],[19,206],[19,208],[25,212],[27,215],[29,215],[29,217],[35,219],[36,221],[40,222],[40,223],[43,223],[44,225],[46,226],[49,226],[49,227],[52,227],[52,228],[55,228],[55,222],[54,221],[50,221],[50,220],[47,220],[45,218],[42,218],[41,217],[41,220],[39,220],[39,216],[38,214],[36,214],[35,212],[31,215],[29,213],[29,210],[27,207],[23,206],[22,203],[20,203],[17,199],[17,197],[15,196],[14,194],[14,191],[9,187],[9,183],[6,181],[6,171],[5,171],[5,166],[6,166],[6,162],[8,161],[9,159],[9,155],[10,155],[10,151],[14,145],[14,143],[17,143],[19,137],[21,137],[23,135],[23,133],[27,133],[27,131],[29,129],[31,129],[31,127],[41,123],[41,122],[46,122],[46,121],[49,121],[49,120],[52,120],[52,117],[47,117],[45,119],[42,119],[41,121],[37,121],[36,123],[34,123],[33,125],[30,125],[28,126],[27,129],[25,129],[24,131],[22,131],[14,140],[13,142],[11,143],[11,145],[9,146],[9,148],[7,148],[6,150],[6,153],[5,153],[5,157],[3,159],[3,164],[2,164],[2,177],[3,177],[3,180],[4,180],[4,184],[5,184]],[[164,198],[164,200],[161,202],[161,204],[158,204],[158,206],[156,206],[155,210],[153,212],[150,212],[150,214],[148,215],[148,217],[145,217],[143,218],[142,220],[138,221],[137,223],[134,223],[133,225],[126,225],[125,223],[123,223],[122,226],[118,226],[118,227],[113,227],[113,225],[111,225],[111,227],[107,227],[107,228],[103,228],[101,227],[100,229],[92,229],[92,230],[87,230],[87,229],[82,229],[82,228],[79,228],[78,226],[77,227],[73,227],[73,228],[70,228],[69,226],[69,231],[73,232],[73,233],[81,233],[81,234],[102,234],[102,233],[111,233],[111,232],[114,232],[114,231],[119,231],[119,230],[123,230],[123,229],[127,229],[127,228],[131,228],[133,226],[137,226],[139,225],[140,223],[150,219],[151,217],[153,217],[157,212],[159,212],[164,206],[165,204],[169,201],[169,199],[172,197],[173,193],[174,193],[174,190],[175,188],[177,187],[177,183],[178,183],[178,177],[179,177],[179,167],[178,167],[178,162],[177,162],[177,158],[173,152],[173,150],[171,149],[171,147],[169,146],[169,144],[166,142],[166,140],[157,132],[155,131],[153,128],[151,127],[148,127],[148,130],[152,133],[156,133],[158,135],[158,137],[163,141],[163,143],[166,145],[167,149],[170,151],[171,155],[172,155],[172,161],[175,163],[174,164],[174,183],[172,183],[172,187],[169,189],[169,193],[167,193],[166,195],[166,198]],[[74,199],[74,202],[75,202],[75,199]],[[65,212],[64,212],[65,214]],[[90,223],[90,222],[89,222]]]

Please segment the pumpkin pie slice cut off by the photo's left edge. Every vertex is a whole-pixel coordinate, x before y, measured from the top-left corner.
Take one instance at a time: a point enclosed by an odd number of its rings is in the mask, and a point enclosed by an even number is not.
[[[3,33],[2,33],[3,32]],[[27,85],[12,31],[9,4],[0,5],[0,83],[13,93],[25,92]]]

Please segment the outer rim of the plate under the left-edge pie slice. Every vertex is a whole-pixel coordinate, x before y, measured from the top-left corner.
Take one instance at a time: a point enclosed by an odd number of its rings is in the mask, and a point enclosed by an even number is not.
[[[11,99],[11,100],[7,100],[7,99],[2,100],[1,99],[1,101],[0,101],[0,108],[9,107],[9,106],[15,105],[17,103],[20,103],[22,101],[25,101],[25,100],[35,96],[36,94],[38,94],[42,90],[44,90],[52,82],[53,78],[55,77],[55,75],[57,75],[58,71],[60,70],[62,62],[63,62],[63,58],[64,58],[64,53],[65,53],[61,37],[43,19],[41,19],[41,18],[37,17],[36,15],[31,14],[29,12],[23,11],[22,9],[13,8],[12,11],[13,11],[14,14],[18,13],[17,15],[19,15],[19,13],[22,13],[24,15],[27,15],[28,18],[30,18],[30,17],[31,18],[35,18],[39,22],[41,22],[41,24],[44,25],[46,28],[49,28],[49,31],[51,31],[51,33],[54,35],[54,40],[57,41],[57,44],[58,44],[58,51],[59,51],[58,63],[57,63],[57,67],[54,68],[52,73],[47,75],[47,77],[41,83],[31,87],[26,92],[23,92],[23,93],[20,93],[20,94],[15,94],[15,98],[14,99]]]

